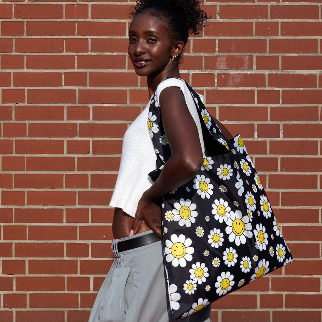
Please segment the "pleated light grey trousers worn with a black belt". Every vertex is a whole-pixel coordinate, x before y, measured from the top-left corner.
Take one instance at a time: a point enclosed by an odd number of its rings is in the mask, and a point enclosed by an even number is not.
[[[150,232],[113,240],[116,259],[99,289],[89,322],[174,322],[166,294],[162,242],[118,253],[118,242]],[[208,305],[179,321],[210,322],[210,309]]]

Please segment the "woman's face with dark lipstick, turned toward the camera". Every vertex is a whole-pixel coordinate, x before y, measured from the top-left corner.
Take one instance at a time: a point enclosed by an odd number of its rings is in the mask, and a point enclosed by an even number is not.
[[[128,55],[139,76],[156,77],[171,65],[169,34],[149,12],[137,14],[129,28]]]

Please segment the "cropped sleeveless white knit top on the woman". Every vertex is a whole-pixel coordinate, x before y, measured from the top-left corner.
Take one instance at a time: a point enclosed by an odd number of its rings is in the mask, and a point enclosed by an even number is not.
[[[188,109],[197,125],[204,153],[200,120],[187,85],[177,78],[169,78],[161,82],[156,89],[157,101],[159,101],[161,91],[166,87],[180,87],[182,90]],[[200,97],[203,100],[203,96],[200,95]],[[131,217],[135,217],[137,204],[142,194],[152,185],[148,173],[156,169],[156,153],[147,125],[150,101],[125,132],[118,178],[109,203],[112,207],[122,208]]]

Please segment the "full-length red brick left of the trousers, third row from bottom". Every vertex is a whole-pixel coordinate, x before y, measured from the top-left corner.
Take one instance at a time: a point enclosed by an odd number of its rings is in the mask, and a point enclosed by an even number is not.
[[[16,277],[17,291],[64,291],[64,277]]]

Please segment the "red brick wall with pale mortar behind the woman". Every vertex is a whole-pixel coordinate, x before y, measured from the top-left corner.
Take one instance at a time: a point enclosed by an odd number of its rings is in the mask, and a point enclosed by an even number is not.
[[[321,3],[208,0],[182,77],[245,138],[293,264],[215,302],[213,322],[321,322]],[[82,322],[112,263],[122,137],[148,101],[131,2],[0,4],[1,322]]]

